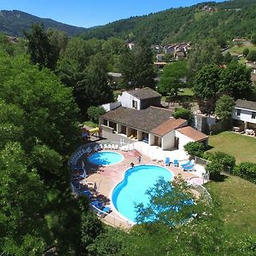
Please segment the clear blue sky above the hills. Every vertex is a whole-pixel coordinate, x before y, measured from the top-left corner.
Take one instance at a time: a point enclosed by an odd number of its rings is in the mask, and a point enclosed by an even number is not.
[[[0,9],[18,9],[73,26],[98,26],[135,15],[190,6],[200,0],[1,0]],[[219,0],[216,2],[223,2]]]

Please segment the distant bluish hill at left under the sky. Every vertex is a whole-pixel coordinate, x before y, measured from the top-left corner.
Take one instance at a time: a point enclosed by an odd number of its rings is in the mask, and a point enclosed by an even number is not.
[[[39,18],[19,10],[0,11],[0,32],[8,34],[9,36],[21,36],[23,30],[29,29],[32,23],[41,22],[43,22],[45,29],[49,27],[57,28],[67,32],[68,36],[73,36],[86,30],[84,27],[70,26],[55,20]]]

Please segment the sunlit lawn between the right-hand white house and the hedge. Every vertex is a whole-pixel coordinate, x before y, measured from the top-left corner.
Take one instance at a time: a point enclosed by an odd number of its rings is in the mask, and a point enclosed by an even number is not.
[[[236,157],[236,163],[256,163],[256,137],[247,137],[231,131],[224,131],[209,137],[209,151],[222,151]]]

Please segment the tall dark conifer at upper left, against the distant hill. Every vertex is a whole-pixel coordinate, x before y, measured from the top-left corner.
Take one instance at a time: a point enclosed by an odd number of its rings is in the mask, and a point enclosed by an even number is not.
[[[54,70],[58,60],[57,50],[55,45],[50,44],[43,24],[32,24],[32,31],[25,31],[24,35],[28,40],[27,52],[31,56],[32,63],[38,64],[40,68],[48,67]]]

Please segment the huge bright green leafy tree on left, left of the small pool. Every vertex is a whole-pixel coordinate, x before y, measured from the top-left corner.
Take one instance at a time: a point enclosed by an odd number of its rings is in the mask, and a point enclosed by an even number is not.
[[[0,56],[0,66],[5,66],[0,97],[24,112],[22,145],[29,150],[41,143],[58,153],[71,153],[79,139],[78,108],[72,90],[49,69],[39,71],[24,56]]]

